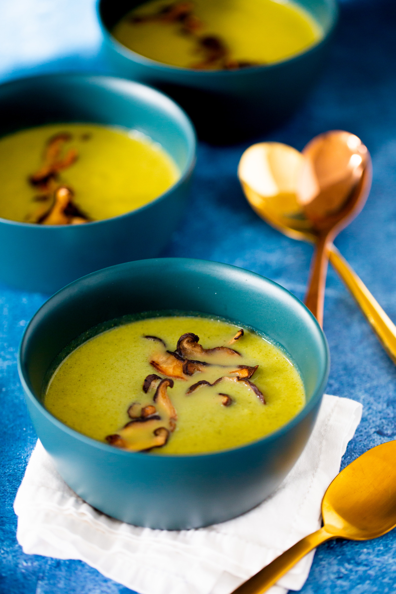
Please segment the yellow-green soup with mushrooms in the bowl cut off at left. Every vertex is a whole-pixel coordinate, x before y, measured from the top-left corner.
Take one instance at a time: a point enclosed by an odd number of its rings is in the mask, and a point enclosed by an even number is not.
[[[107,219],[154,200],[179,176],[159,144],[134,130],[30,128],[0,138],[0,216],[43,225]]]

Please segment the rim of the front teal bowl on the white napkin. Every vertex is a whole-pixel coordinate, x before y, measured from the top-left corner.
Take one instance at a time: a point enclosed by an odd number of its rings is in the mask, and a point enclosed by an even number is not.
[[[103,274],[103,271],[112,270],[112,269],[114,270],[116,268],[119,269],[122,267],[127,268],[127,267],[131,266],[131,264],[133,265],[135,263],[138,264],[141,262],[148,263],[148,262],[153,262],[153,261],[157,261],[160,263],[163,263],[163,262],[168,262],[168,263],[179,262],[180,263],[181,262],[186,267],[191,267],[194,264],[195,264],[195,266],[197,266],[199,264],[201,266],[209,265],[211,267],[216,267],[217,270],[219,268],[223,268],[223,269],[224,268],[233,268],[233,269],[236,269],[237,271],[243,271],[243,273],[245,273],[245,274],[247,273],[247,274],[249,274],[249,276],[251,276],[255,279],[258,279],[261,282],[262,282],[262,280],[264,280],[264,282],[268,283],[268,285],[272,285],[272,286],[276,287],[277,290],[280,290],[280,292],[286,293],[286,295],[288,296],[289,299],[291,298],[292,301],[294,301],[298,304],[298,307],[305,309],[306,313],[308,312],[309,317],[313,321],[314,326],[316,327],[316,330],[318,331],[318,334],[321,337],[321,342],[322,342],[322,346],[324,347],[324,353],[325,353],[324,372],[323,372],[321,381],[319,382],[318,386],[316,387],[316,390],[313,392],[313,394],[311,396],[311,399],[308,402],[306,402],[305,406],[302,408],[302,410],[300,410],[300,412],[296,416],[294,416],[292,419],[290,419],[289,422],[287,422],[285,425],[282,425],[276,431],[270,433],[269,435],[265,435],[264,437],[261,437],[257,440],[249,441],[249,443],[238,445],[237,447],[226,448],[224,450],[210,451],[210,452],[204,452],[204,453],[161,454],[161,456],[158,456],[159,459],[164,459],[164,458],[166,458],[166,459],[188,459],[191,457],[197,458],[197,457],[206,457],[206,456],[220,456],[221,457],[221,456],[225,456],[227,454],[230,454],[230,453],[233,453],[236,451],[240,451],[240,450],[249,451],[249,449],[253,449],[253,448],[257,447],[258,445],[261,445],[264,443],[270,444],[271,442],[276,441],[278,438],[282,437],[284,434],[286,434],[287,432],[292,430],[306,416],[308,416],[309,413],[311,413],[311,411],[313,409],[315,409],[316,405],[318,405],[318,403],[321,401],[322,396],[325,391],[325,388],[327,386],[328,375],[330,373],[330,349],[329,349],[328,342],[325,337],[324,331],[322,330],[321,326],[319,326],[319,323],[316,320],[315,316],[302,303],[302,301],[300,301],[300,299],[298,299],[295,295],[293,295],[293,293],[291,293],[285,287],[276,283],[274,280],[268,279],[267,277],[262,276],[261,274],[252,272],[250,270],[246,270],[245,268],[233,266],[232,264],[224,264],[221,262],[216,262],[216,261],[211,261],[211,260],[201,260],[198,258],[150,258],[148,260],[134,260],[132,262],[126,262],[123,264],[115,264],[115,266],[109,266],[107,268],[102,268],[101,270],[94,271],[90,274],[87,274],[86,276],[81,277],[80,279],[74,280],[72,283],[69,283],[69,285],[62,287],[62,289],[60,289],[58,292],[56,292],[52,296],[50,296],[50,298],[47,299],[47,301],[45,301],[45,303],[39,309],[37,309],[37,311],[35,312],[33,317],[30,319],[29,323],[27,324],[27,326],[24,330],[24,333],[21,338],[20,346],[18,348],[18,356],[17,356],[18,375],[19,375],[21,384],[24,388],[24,393],[26,394],[26,397],[28,397],[28,399],[33,403],[33,405],[36,406],[37,409],[39,409],[40,413],[42,415],[44,415],[48,421],[50,421],[58,429],[61,429],[61,431],[66,432],[66,434],[68,434],[70,437],[73,437],[79,441],[82,441],[85,445],[88,445],[88,446],[91,446],[94,448],[98,448],[99,450],[102,450],[107,453],[112,453],[115,456],[129,456],[132,459],[135,456],[142,455],[141,452],[131,452],[131,451],[121,450],[119,448],[112,447],[109,444],[102,443],[101,441],[94,440],[93,438],[87,437],[87,435],[79,433],[78,431],[75,431],[75,429],[68,427],[67,425],[62,423],[62,421],[59,421],[59,419],[57,419],[55,416],[53,416],[45,408],[45,406],[43,406],[43,404],[41,402],[39,402],[37,397],[34,396],[33,391],[30,389],[30,386],[28,385],[26,367],[22,365],[21,361],[22,361],[22,352],[23,352],[24,347],[28,340],[27,333],[29,331],[31,324],[33,324],[33,321],[40,314],[40,312],[43,311],[43,309],[49,307],[50,302],[52,302],[53,299],[59,299],[59,293],[62,293],[62,291],[65,291],[66,289],[68,289],[71,286],[77,285],[77,283],[80,283],[83,280],[91,279],[94,276],[100,276],[100,274]],[[26,377],[25,377],[25,375],[26,375]],[[156,458],[157,458],[157,456],[156,456]]]

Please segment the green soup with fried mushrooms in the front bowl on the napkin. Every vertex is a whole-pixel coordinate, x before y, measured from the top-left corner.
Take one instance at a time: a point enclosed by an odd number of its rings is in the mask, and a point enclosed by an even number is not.
[[[153,454],[236,447],[304,404],[299,372],[278,346],[225,321],[181,315],[123,323],[83,342],[45,393],[46,408],[76,431],[132,451],[153,447],[148,439],[164,443]]]

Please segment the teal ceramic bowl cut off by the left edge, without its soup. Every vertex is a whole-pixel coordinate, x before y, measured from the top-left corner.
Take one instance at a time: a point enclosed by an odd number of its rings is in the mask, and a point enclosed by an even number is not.
[[[86,225],[0,219],[0,282],[53,293],[94,270],[153,258],[178,226],[195,163],[195,132],[159,91],[121,78],[55,74],[0,86],[0,136],[42,124],[91,122],[134,128],[173,157],[180,179],[137,210]]]

